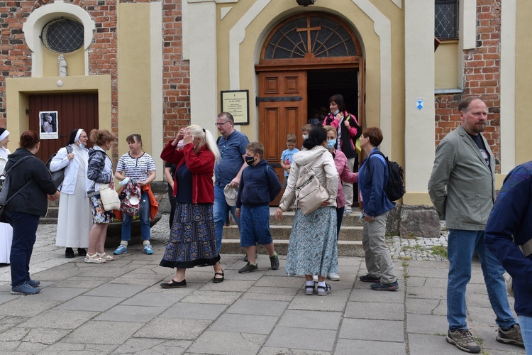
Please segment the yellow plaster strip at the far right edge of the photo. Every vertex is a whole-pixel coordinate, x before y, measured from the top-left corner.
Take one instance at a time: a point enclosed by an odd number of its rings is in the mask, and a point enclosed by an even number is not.
[[[532,1],[517,1],[516,14],[516,165],[532,160],[532,46],[530,40]],[[504,117],[501,117],[504,119]]]

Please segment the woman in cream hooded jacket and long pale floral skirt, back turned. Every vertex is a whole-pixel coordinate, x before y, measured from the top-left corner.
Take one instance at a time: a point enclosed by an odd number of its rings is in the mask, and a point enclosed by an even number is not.
[[[282,195],[276,219],[282,219],[282,212],[297,204],[297,181],[299,175],[311,168],[321,186],[328,192],[328,199],[321,207],[304,214],[297,207],[290,233],[285,273],[305,275],[306,295],[314,294],[312,275],[318,275],[318,295],[327,295],[331,286],[325,283],[328,273],[338,273],[338,245],[336,244],[336,194],[338,193],[338,171],[333,155],[326,149],[327,131],[315,127],[309,138],[303,142],[304,151],[295,153],[290,167],[288,184]]]

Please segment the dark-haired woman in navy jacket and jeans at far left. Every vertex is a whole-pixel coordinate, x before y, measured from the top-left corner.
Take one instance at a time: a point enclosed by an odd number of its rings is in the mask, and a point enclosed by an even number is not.
[[[4,207],[2,217],[13,227],[11,294],[35,295],[40,292],[40,282],[30,278],[30,259],[37,238],[39,218],[45,217],[48,211],[47,195],[49,200],[55,201],[60,192],[57,191],[44,163],[35,157],[40,148],[38,134],[25,131],[19,146],[20,148],[9,155],[6,171],[18,160],[25,160],[9,173],[9,204]]]

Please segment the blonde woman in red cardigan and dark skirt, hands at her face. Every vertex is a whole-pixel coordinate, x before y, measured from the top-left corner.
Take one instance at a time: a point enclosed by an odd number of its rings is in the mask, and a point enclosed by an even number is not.
[[[177,143],[183,140],[183,148]],[[187,287],[185,271],[199,265],[214,266],[213,283],[223,282],[214,228],[214,163],[220,160],[216,141],[200,126],[181,129],[162,150],[161,159],[177,164],[173,195],[176,197],[170,239],[160,266],[175,268],[175,275],[162,288]]]

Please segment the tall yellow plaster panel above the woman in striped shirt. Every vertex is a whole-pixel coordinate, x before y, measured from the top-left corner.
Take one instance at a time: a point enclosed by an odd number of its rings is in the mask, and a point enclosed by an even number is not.
[[[129,151],[126,137],[139,133],[150,155],[150,4],[118,4],[118,155]]]

